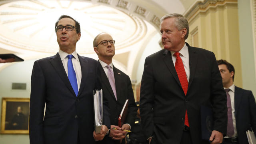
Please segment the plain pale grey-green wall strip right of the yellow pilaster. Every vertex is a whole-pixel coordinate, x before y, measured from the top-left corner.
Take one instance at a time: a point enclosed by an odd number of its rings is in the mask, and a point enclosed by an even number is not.
[[[256,96],[255,48],[253,45],[250,0],[238,0],[238,22],[243,88]]]

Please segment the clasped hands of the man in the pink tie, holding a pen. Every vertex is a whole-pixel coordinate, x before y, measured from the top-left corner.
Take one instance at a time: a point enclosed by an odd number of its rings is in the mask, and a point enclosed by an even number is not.
[[[123,124],[122,128],[126,128],[126,126],[124,126],[124,125],[125,124]],[[128,125],[128,124],[126,124],[126,125]],[[116,130],[114,130],[113,128],[116,128]],[[124,129],[122,129],[122,128],[120,128],[119,126],[111,125],[111,130],[110,130],[109,136],[113,140],[122,140],[125,137],[125,134],[127,133],[126,131],[123,131]],[[128,125],[128,128],[130,128],[129,125]]]

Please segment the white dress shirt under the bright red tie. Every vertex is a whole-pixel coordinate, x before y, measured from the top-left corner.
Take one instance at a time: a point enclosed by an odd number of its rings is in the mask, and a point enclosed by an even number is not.
[[[186,45],[186,43],[184,44],[183,48],[179,51],[180,53],[180,58],[182,59],[183,65],[184,65],[184,69],[186,72],[186,76],[189,82],[189,56],[188,56],[188,46]],[[175,62],[176,62],[176,56],[174,56],[175,52],[171,52],[172,54],[172,61],[175,67]]]

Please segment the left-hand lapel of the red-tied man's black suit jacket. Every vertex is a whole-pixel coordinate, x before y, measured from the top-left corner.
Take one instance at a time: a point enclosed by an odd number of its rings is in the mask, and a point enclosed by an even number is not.
[[[178,74],[177,74],[177,72],[175,70],[175,67],[174,67],[174,64],[173,64],[173,61],[172,61],[172,56],[171,56],[170,51],[168,51],[168,50],[164,51],[163,60],[164,60],[164,63],[166,64],[167,68],[172,73],[172,76],[174,77],[176,82],[180,85],[180,88],[182,88],[181,84],[180,84],[180,80],[179,80]]]

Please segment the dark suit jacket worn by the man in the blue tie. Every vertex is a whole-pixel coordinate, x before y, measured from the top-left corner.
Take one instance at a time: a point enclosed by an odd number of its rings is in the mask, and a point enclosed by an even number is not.
[[[82,80],[78,96],[59,54],[36,60],[31,77],[30,144],[93,144],[93,91],[100,88],[98,62],[79,56]],[[44,116],[44,105],[46,111]],[[104,100],[104,124],[110,127]]]

